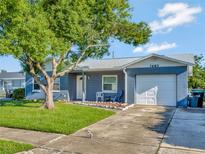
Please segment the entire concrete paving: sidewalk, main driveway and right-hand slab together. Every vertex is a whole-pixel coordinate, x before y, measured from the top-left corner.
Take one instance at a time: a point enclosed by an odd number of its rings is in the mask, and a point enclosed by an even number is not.
[[[0,128],[0,138],[35,145],[26,154],[201,154],[205,111],[135,106],[69,136]]]

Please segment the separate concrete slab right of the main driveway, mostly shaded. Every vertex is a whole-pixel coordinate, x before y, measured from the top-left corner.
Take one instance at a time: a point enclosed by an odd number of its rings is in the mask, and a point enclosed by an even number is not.
[[[205,109],[178,108],[160,145],[160,154],[205,153]]]

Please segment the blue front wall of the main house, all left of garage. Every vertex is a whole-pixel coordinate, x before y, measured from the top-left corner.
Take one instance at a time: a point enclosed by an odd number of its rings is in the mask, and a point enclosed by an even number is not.
[[[76,75],[66,74],[60,78],[60,91],[66,91],[69,94],[70,100],[76,100]],[[81,75],[81,74],[79,74]],[[96,92],[102,91],[102,75],[117,75],[118,87],[120,92],[124,91],[124,73],[122,71],[107,71],[107,72],[87,72],[86,75],[86,100],[95,101]],[[116,93],[105,93],[105,96],[114,97]],[[33,79],[30,75],[26,74],[26,97],[27,99],[43,99],[43,92],[33,91]],[[54,98],[58,97],[58,93],[54,93]],[[123,98],[124,99],[124,98]]]

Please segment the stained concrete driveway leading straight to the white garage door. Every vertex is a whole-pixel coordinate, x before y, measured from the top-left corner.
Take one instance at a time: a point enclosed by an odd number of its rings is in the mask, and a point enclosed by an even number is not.
[[[174,111],[175,108],[135,106],[34,152],[60,149],[76,154],[156,153]],[[92,138],[88,137],[88,130],[93,133]]]

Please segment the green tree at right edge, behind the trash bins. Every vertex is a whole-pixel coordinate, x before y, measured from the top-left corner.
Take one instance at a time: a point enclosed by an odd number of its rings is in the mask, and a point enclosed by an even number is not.
[[[193,76],[189,77],[189,88],[205,89],[205,63],[203,55],[195,55]]]

